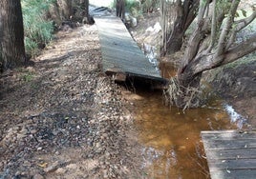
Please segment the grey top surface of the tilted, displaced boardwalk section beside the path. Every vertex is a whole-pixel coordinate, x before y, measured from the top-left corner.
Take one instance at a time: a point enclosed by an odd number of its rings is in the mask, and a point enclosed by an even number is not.
[[[164,81],[149,62],[122,21],[115,16],[95,16],[104,72]]]

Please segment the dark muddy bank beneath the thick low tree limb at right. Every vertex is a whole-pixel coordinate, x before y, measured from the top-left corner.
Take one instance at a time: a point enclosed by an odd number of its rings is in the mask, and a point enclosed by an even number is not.
[[[255,53],[241,62],[210,70],[203,75],[210,87],[226,103],[232,105],[247,119],[250,128],[256,128],[256,58]]]

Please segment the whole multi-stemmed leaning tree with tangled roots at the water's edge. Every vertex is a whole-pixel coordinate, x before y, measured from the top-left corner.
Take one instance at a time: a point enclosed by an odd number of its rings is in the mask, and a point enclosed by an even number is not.
[[[256,18],[256,8],[236,18],[240,0],[201,0],[197,27],[191,35],[177,76],[171,79],[169,102],[181,108],[198,107],[204,70],[234,62],[256,50],[256,33],[243,40],[237,34]]]

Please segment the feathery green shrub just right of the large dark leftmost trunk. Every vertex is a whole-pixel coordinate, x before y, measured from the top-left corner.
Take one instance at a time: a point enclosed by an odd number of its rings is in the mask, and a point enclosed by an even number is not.
[[[53,38],[53,22],[46,14],[53,0],[22,0],[26,53],[36,54]]]

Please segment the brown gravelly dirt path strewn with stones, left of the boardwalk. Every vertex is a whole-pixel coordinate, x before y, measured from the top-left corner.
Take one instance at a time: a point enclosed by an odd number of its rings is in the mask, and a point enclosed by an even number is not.
[[[132,117],[99,70],[96,26],[60,31],[0,78],[0,178],[138,178]]]

